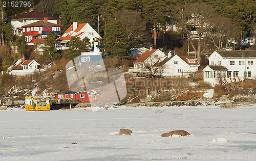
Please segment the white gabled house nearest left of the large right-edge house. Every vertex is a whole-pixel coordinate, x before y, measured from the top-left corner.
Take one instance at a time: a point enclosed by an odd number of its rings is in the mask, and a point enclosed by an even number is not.
[[[189,73],[198,71],[200,64],[195,56],[168,56],[160,62],[164,65],[163,76],[186,76]]]

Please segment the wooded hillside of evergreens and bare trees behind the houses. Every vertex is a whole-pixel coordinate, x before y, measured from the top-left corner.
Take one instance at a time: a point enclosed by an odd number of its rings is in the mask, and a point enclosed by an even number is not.
[[[100,45],[105,49],[105,61],[109,62],[111,67],[120,66],[124,70],[131,66],[129,62],[124,61],[133,60],[129,55],[132,48],[153,46],[165,53],[168,50],[176,51],[178,55],[187,55],[188,51],[195,51],[200,61],[202,53],[230,47],[230,38],[240,42],[241,30],[243,36],[246,36],[252,34],[250,31],[255,30],[256,26],[254,0],[34,1],[31,7],[3,8],[0,31],[4,35],[5,46],[0,46],[1,70],[6,70],[20,58],[37,59],[40,64],[56,64],[55,62],[69,61],[80,55],[80,52],[90,50],[87,39],[81,41],[76,38],[71,40],[68,50],[56,50],[54,43],[57,35],[50,32],[46,39],[45,51],[42,56],[38,56],[33,52],[33,46],[26,44],[24,36],[13,35],[9,21],[12,17],[28,12],[29,8],[59,17],[62,33],[74,21],[88,22],[95,31],[100,32]],[[178,27],[178,32],[166,31],[166,26],[174,24]],[[195,32],[191,31],[197,31],[197,38],[191,38],[195,36]],[[0,32],[1,42],[2,33]],[[240,43],[236,46],[231,44],[231,47],[240,49]],[[14,54],[14,50],[18,52]],[[119,61],[113,61],[116,59]],[[204,65],[205,58],[202,58],[201,62],[201,65]],[[8,76],[2,76],[2,79],[2,83],[6,84]],[[5,87],[6,85],[2,85],[2,91],[6,91]]]

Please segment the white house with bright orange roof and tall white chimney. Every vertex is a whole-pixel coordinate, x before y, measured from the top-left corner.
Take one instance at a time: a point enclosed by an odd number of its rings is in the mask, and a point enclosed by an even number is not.
[[[68,49],[69,41],[72,37],[79,37],[81,40],[88,37],[91,43],[101,38],[89,23],[73,22],[69,29],[57,39],[56,48],[62,50]]]

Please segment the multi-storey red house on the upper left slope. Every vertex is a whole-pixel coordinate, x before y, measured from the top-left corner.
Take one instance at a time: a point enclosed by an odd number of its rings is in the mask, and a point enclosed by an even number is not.
[[[43,43],[44,38],[47,37],[48,32],[53,31],[60,35],[61,25],[48,22],[48,18],[45,17],[44,21],[36,21],[22,26],[23,35],[25,36],[28,45],[34,45],[35,43]]]

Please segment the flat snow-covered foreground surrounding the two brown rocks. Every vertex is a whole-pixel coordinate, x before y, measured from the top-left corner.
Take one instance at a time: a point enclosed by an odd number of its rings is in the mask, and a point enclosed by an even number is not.
[[[255,160],[255,114],[256,105],[0,111],[0,160]],[[160,137],[178,129],[191,136]]]

